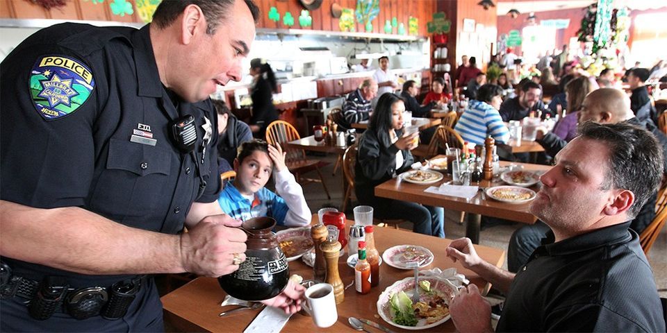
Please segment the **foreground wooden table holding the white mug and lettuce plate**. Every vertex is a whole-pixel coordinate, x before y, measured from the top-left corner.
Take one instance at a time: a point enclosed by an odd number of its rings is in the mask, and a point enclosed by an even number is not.
[[[317,219],[317,214],[315,214]],[[351,221],[348,221],[348,225]],[[472,283],[477,284],[479,289],[484,289],[486,282],[479,278],[479,275],[463,268],[458,262],[454,263],[451,259],[445,257],[445,248],[450,244],[450,239],[438,239],[423,234],[396,230],[394,228],[375,228],[375,244],[380,252],[390,248],[390,246],[400,244],[416,244],[426,246],[434,254],[434,262],[422,269],[431,268],[450,268],[455,267],[456,271],[466,275]],[[487,262],[496,266],[502,266],[504,262],[504,251],[497,248],[486,246],[475,246],[477,254]],[[354,280],[354,270],[345,263],[347,255],[340,257],[338,261],[338,271],[343,284],[349,284]],[[313,277],[312,268],[306,266],[300,259],[290,262],[290,273],[302,275],[304,279]],[[380,283],[377,287],[371,289],[370,293],[361,295],[349,288],[345,291],[345,301],[337,306],[338,321],[326,329],[321,329],[313,324],[308,316],[294,314],[287,322],[282,332],[356,332],[347,323],[347,317],[356,316],[369,319],[389,327],[395,332],[411,332],[400,330],[385,321],[377,314],[376,302],[379,294],[397,280],[413,276],[412,271],[393,268],[388,264],[380,266]],[[225,293],[220,288],[215,278],[197,278],[185,286],[168,293],[162,297],[164,305],[165,321],[169,321],[176,329],[183,332],[242,332],[247,325],[255,318],[260,310],[239,311],[227,317],[220,318],[218,314],[222,311],[220,302],[224,299]],[[227,307],[226,309],[230,309]],[[369,329],[370,332],[380,332],[379,330]],[[433,327],[430,330],[420,332],[454,332],[454,324],[447,321],[442,325]]]

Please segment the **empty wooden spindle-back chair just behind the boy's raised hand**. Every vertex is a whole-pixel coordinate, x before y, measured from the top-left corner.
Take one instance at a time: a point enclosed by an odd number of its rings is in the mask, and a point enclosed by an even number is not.
[[[309,182],[320,182],[322,183],[322,187],[324,187],[324,193],[327,194],[327,198],[331,199],[329,189],[327,189],[327,184],[324,182],[322,172],[320,171],[320,167],[327,165],[327,163],[320,160],[308,159],[303,149],[289,148],[286,145],[287,142],[297,139],[301,139],[297,129],[287,121],[277,120],[270,123],[266,128],[266,141],[269,144],[281,145],[283,151],[286,153],[285,164],[287,165],[287,169],[294,174],[297,182],[302,185],[306,185]],[[313,170],[317,171],[320,179],[302,176],[304,173]]]

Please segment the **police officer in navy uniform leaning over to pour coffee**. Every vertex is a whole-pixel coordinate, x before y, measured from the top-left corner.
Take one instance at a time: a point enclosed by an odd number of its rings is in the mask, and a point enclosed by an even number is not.
[[[1,331],[161,331],[145,274],[238,269],[208,95],[240,80],[257,17],[162,1],[140,30],[58,24],[2,62]],[[294,312],[302,293],[265,302]]]

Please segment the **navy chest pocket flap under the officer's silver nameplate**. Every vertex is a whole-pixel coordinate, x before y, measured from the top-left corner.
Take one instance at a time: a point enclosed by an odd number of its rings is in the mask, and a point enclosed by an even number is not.
[[[147,146],[119,139],[110,139],[107,169],[130,171],[139,176],[151,173],[169,175],[170,153],[156,146]]]

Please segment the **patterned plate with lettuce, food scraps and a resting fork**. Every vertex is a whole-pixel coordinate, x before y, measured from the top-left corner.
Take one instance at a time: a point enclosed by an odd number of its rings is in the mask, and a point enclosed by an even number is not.
[[[450,300],[459,293],[447,280],[420,277],[419,301],[413,302],[415,279],[405,278],[384,289],[377,299],[377,313],[395,327],[425,330],[450,319]]]

